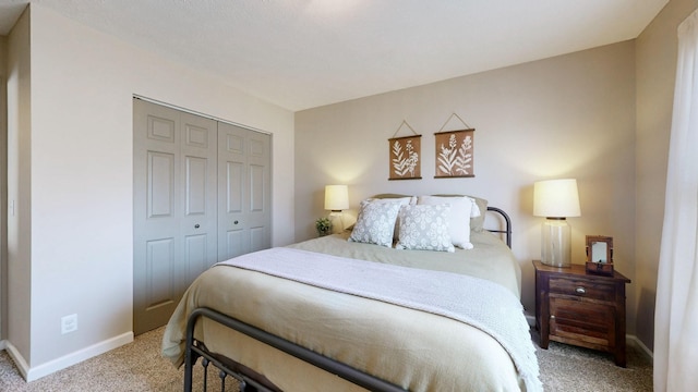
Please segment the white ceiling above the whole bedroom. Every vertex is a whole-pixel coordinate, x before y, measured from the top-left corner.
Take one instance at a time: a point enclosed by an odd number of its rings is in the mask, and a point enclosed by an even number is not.
[[[669,0],[32,2],[296,111],[636,38]]]

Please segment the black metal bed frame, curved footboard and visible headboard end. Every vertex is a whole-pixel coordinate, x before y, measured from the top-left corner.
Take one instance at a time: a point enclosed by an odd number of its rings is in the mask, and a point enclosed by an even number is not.
[[[510,248],[512,247],[512,220],[509,216],[504,212],[504,210],[496,207],[488,207],[489,211],[496,212],[502,216],[505,221],[504,230],[494,230],[488,229],[490,232],[505,234],[506,244]],[[226,360],[225,357],[220,355],[210,353],[206,350],[206,346],[203,342],[200,342],[194,339],[194,328],[196,326],[196,321],[200,318],[208,318],[213,321],[216,321],[227,328],[241,332],[252,339],[255,339],[262,343],[265,343],[272,347],[280,350],[289,355],[292,355],[299,359],[302,359],[313,366],[316,366],[323,370],[326,370],[330,373],[334,373],[342,379],[352,382],[357,385],[365,388],[370,391],[380,391],[380,392],[396,392],[396,391],[406,391],[405,389],[395,385],[390,382],[382,380],[375,376],[365,373],[361,370],[354,369],[351,366],[340,363],[338,360],[326,357],[322,354],[315,353],[309,348],[300,346],[296,343],[289,342],[282,338],[279,338],[275,334],[263,331],[256,327],[250,326],[245,322],[242,322],[236,318],[224,315],[219,311],[216,311],[210,308],[201,307],[194,309],[192,314],[189,316],[186,322],[186,347],[185,347],[185,356],[184,356],[184,392],[191,392],[193,388],[193,372],[194,365],[202,358],[202,367],[203,367],[203,390],[207,390],[207,376],[208,376],[208,366],[210,364],[216,367],[219,372],[218,377],[220,378],[220,391],[225,392],[226,390],[226,377],[230,376],[238,381],[240,391],[244,392],[278,392],[278,388],[275,385],[265,382],[264,380],[258,380],[255,375],[245,371],[240,367],[239,364],[233,363],[232,360]],[[257,375],[258,376],[258,375]]]

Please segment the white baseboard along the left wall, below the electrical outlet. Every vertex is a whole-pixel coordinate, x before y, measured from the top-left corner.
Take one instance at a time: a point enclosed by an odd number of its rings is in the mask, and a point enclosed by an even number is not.
[[[133,332],[127,332],[121,335],[108,339],[106,341],[93,344],[88,347],[79,350],[76,352],[64,355],[60,358],[56,358],[48,363],[41,364],[39,366],[29,368],[24,357],[20,354],[20,352],[12,345],[12,343],[7,342],[7,350],[14,364],[20,369],[22,377],[27,381],[38,380],[41,377],[53,373],[58,370],[65,369],[67,367],[73,366],[75,364],[80,364],[85,359],[89,359],[99,354],[104,354],[113,348],[120,347],[124,344],[129,344],[133,342]]]

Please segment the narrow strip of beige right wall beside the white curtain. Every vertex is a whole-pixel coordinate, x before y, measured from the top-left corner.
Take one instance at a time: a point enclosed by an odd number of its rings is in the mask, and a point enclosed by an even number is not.
[[[678,24],[698,8],[672,0],[637,38],[636,280],[637,336],[654,344],[654,297],[659,264],[666,161],[676,75]]]

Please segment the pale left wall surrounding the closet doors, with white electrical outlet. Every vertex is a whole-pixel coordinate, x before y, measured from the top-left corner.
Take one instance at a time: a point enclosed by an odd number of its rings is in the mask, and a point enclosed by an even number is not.
[[[35,3],[10,53],[8,342],[28,379],[132,340],[134,94],[272,133],[273,244],[293,240],[292,112]]]

